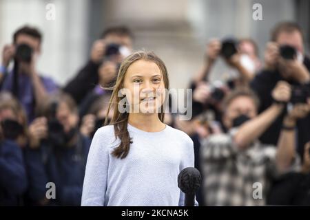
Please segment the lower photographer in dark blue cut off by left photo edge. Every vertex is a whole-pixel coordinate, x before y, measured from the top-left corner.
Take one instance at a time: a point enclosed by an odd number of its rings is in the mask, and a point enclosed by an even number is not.
[[[0,206],[23,205],[28,186],[22,147],[25,113],[10,94],[0,93]]]

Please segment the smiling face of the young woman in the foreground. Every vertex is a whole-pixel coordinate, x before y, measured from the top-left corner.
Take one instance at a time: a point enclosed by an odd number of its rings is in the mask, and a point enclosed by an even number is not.
[[[139,60],[127,69],[123,93],[130,113],[158,113],[165,100],[163,74],[152,61]]]

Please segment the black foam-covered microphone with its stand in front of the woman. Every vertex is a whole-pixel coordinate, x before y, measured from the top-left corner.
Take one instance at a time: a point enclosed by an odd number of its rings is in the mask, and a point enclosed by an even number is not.
[[[195,205],[195,193],[201,184],[199,170],[194,167],[187,167],[178,175],[178,188],[185,193],[185,206]]]

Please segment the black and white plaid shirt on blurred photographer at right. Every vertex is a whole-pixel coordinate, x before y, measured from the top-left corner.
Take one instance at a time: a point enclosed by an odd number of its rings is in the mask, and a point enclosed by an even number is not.
[[[280,173],[276,168],[276,147],[255,142],[238,150],[232,135],[211,135],[200,148],[203,189],[207,206],[264,206],[271,180]],[[289,170],[298,170],[294,160]],[[254,199],[258,182],[262,197]],[[258,189],[259,190],[259,189]]]

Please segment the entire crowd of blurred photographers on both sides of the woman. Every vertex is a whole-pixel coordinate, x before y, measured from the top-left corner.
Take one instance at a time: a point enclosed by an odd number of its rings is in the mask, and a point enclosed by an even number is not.
[[[3,48],[1,206],[81,204],[92,136],[112,118],[109,88],[133,50],[130,30],[109,28],[76,76],[59,87],[37,72],[42,41],[39,30],[25,26]],[[232,74],[210,80],[220,59]],[[200,206],[310,205],[309,70],[296,23],[276,25],[263,62],[252,39],[207,43],[205,63],[190,83],[192,120],[165,117],[194,142],[203,175]],[[48,199],[48,183],[56,199]]]

